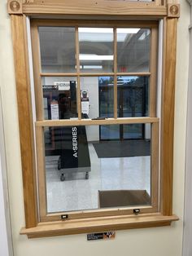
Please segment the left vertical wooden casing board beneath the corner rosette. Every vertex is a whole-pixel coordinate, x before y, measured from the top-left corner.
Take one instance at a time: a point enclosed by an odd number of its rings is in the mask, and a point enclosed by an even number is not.
[[[25,19],[11,15],[12,41],[15,59],[15,82],[20,125],[20,150],[24,183],[24,210],[26,227],[37,225],[37,192],[33,145],[33,121],[30,104],[28,54]]]

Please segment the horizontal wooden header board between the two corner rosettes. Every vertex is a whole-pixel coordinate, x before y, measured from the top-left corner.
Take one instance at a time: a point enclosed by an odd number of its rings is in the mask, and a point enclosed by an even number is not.
[[[103,0],[44,0],[23,4],[24,14],[65,15],[167,15],[167,8],[155,2],[103,1]]]

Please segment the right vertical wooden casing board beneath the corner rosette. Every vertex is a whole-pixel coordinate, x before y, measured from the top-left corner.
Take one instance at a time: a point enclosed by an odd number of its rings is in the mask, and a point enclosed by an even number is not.
[[[164,86],[161,125],[161,211],[164,215],[172,215],[172,179],[173,179],[173,135],[177,19],[166,22],[166,40],[164,41]]]

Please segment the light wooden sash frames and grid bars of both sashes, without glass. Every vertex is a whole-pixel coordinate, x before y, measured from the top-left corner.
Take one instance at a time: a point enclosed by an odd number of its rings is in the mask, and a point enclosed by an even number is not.
[[[94,24],[94,25],[93,25]],[[78,27],[94,27],[97,28],[113,28],[114,29],[114,55],[116,59],[116,28],[147,28],[151,29],[151,56],[150,58],[150,71],[146,73],[119,73],[116,68],[116,60],[114,60],[114,72],[113,73],[81,73],[80,64],[78,58],[76,58],[77,70],[75,73],[42,73],[41,72],[41,56],[39,50],[39,38],[38,38],[38,27],[73,27],[76,33],[76,55],[79,52],[79,42],[78,42]],[[135,123],[149,123],[151,124],[151,206],[140,207],[140,214],[144,213],[154,213],[158,211],[159,206],[159,117],[156,116],[156,73],[157,73],[157,29],[158,23],[155,21],[151,22],[131,22],[131,21],[111,21],[111,20],[32,20],[31,22],[31,32],[32,32],[32,50],[33,50],[33,70],[34,70],[34,81],[35,81],[35,98],[36,98],[36,138],[37,138],[37,174],[38,174],[38,188],[41,193],[39,193],[39,217],[40,221],[49,220],[60,220],[61,213],[58,214],[47,214],[47,200],[46,200],[46,177],[45,177],[45,147],[43,139],[43,128],[51,126],[95,126],[95,125],[114,125],[114,124],[135,124]],[[129,117],[129,118],[117,118],[117,76],[147,76],[149,77],[150,84],[150,99],[149,99],[149,117]],[[77,77],[77,95],[81,95],[81,77],[98,77],[98,76],[112,76],[114,77],[114,118],[108,118],[107,120],[90,120],[81,119],[81,103],[80,98],[77,104],[78,120],[44,120],[43,106],[42,106],[42,90],[39,86],[41,84],[41,77]],[[137,207],[137,206],[136,206]],[[116,210],[102,210],[103,216],[111,215],[122,215],[122,214],[133,214],[133,209],[136,207],[122,208]],[[88,218],[88,217],[98,217],[101,215],[101,210],[86,210],[86,211],[76,211],[68,212],[68,219],[73,218]]]

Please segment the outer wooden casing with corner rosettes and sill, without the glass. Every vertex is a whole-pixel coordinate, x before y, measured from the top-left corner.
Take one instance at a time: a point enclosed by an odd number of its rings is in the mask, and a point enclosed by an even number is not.
[[[82,2],[83,1],[83,2]],[[177,19],[179,17],[179,5],[168,2],[124,2],[98,0],[8,0],[8,12],[11,15],[12,40],[15,57],[15,82],[17,90],[19,124],[20,124],[20,148],[24,183],[24,210],[25,227],[21,234],[27,234],[29,238],[42,236],[59,236],[83,232],[101,232],[107,230],[119,230],[138,227],[168,226],[177,216],[172,214],[172,162],[173,162],[173,124],[174,124],[174,90],[175,67],[177,45]],[[67,221],[58,220],[54,214],[48,222],[40,221],[37,204],[36,160],[33,135],[32,102],[30,91],[29,64],[28,64],[28,39],[27,17],[40,15],[62,15],[62,18],[70,19],[103,19],[103,20],[160,20],[164,19],[164,50],[163,50],[163,82],[162,104],[160,118],[160,202],[159,210],[154,213],[142,213],[133,215],[128,212],[115,215],[100,214],[95,217],[85,215],[83,218],[71,218]],[[172,42],[172,44],[170,44]],[[37,63],[37,65],[39,65]],[[40,108],[41,109],[41,108]],[[148,119],[147,119],[148,118]],[[118,123],[116,119],[115,123]],[[157,130],[159,120],[151,114],[151,117],[143,117],[141,122],[154,123],[153,130]],[[41,127],[50,125],[50,121],[37,121],[37,134],[41,136]],[[58,126],[63,121],[55,121]],[[81,123],[76,124],[81,125]],[[81,121],[82,122],[82,121]],[[86,121],[83,121],[86,124]],[[95,124],[103,124],[103,121],[94,121]],[[94,124],[92,122],[92,124]],[[109,121],[112,123],[113,121]],[[122,121],[120,123],[130,123]],[[67,124],[67,123],[66,123]],[[89,123],[87,123],[89,124]],[[41,188],[40,188],[41,189]],[[117,210],[118,211],[118,210]]]

